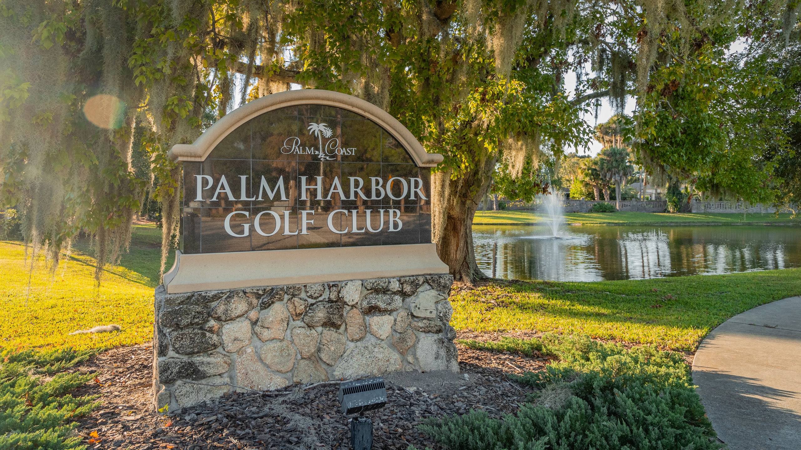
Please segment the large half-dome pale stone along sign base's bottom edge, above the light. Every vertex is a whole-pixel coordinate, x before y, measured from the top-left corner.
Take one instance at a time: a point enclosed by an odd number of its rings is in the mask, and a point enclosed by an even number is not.
[[[381,376],[403,368],[400,356],[386,345],[376,342],[360,342],[342,356],[334,369],[334,378],[351,379],[360,376]]]

